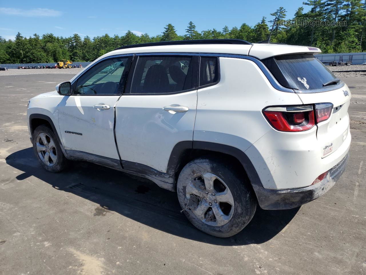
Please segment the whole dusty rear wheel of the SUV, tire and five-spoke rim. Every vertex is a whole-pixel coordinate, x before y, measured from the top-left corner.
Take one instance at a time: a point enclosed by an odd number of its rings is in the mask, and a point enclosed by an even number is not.
[[[249,184],[219,159],[198,158],[179,174],[178,200],[188,220],[199,230],[230,237],[246,227],[257,208]]]

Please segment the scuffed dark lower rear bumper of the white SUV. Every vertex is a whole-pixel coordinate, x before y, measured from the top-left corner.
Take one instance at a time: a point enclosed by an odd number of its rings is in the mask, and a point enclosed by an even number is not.
[[[259,206],[265,210],[291,209],[319,198],[339,180],[346,169],[348,158],[349,153],[347,152],[344,158],[329,170],[324,180],[311,186],[288,190],[273,190],[252,184]]]

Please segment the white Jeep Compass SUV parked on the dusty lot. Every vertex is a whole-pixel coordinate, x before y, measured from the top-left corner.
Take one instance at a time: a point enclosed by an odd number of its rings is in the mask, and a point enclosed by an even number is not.
[[[345,169],[351,94],[319,52],[230,39],[118,48],[30,100],[34,153],[49,172],[83,160],[146,177],[178,192],[195,227],[232,236],[257,203],[295,208]]]

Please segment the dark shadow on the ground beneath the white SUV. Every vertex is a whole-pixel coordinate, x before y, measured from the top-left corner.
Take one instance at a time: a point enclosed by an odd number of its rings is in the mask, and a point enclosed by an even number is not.
[[[38,164],[32,148],[17,151],[5,160],[8,165],[24,172],[16,177],[18,180],[34,176],[61,192],[73,193],[139,223],[214,245],[266,242],[276,236],[300,209],[269,211],[258,207],[253,220],[242,232],[230,238],[216,238],[191,225],[180,212],[176,193],[164,190],[147,179],[87,162],[71,162],[66,171],[49,173]],[[94,216],[97,216],[100,208],[95,211]]]

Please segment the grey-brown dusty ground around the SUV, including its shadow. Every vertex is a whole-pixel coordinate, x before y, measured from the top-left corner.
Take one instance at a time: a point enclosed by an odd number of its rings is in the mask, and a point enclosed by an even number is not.
[[[220,239],[148,180],[85,162],[57,174],[40,168],[27,102],[72,76],[0,74],[0,274],[366,273],[365,77],[344,79],[352,144],[339,183],[300,208],[258,209],[242,232]]]

